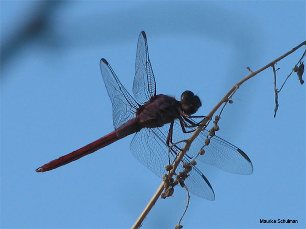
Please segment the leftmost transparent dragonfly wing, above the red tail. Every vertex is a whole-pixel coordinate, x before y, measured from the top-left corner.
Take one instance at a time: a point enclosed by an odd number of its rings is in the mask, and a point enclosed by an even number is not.
[[[120,83],[115,72],[105,59],[100,61],[101,74],[113,106],[113,124],[117,129],[123,123],[135,118],[139,104]]]

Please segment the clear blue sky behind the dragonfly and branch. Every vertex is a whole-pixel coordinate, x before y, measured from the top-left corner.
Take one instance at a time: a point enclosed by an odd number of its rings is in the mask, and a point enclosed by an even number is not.
[[[131,154],[133,136],[47,173],[35,169],[113,131],[99,60],[132,92],[142,30],[157,93],[195,92],[199,115],[249,73],[246,67],[257,70],[305,40],[304,1],[0,4],[2,228],[133,225],[161,183]],[[303,51],[277,63],[278,88]],[[216,200],[191,195],[184,228],[305,227],[304,87],[292,75],[274,119],[272,69],[242,85],[218,135],[246,152],[253,174],[199,162]],[[143,228],[173,228],[185,201],[176,188]],[[260,224],[262,218],[298,223]]]

